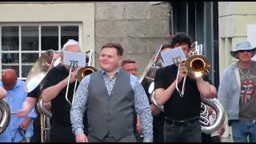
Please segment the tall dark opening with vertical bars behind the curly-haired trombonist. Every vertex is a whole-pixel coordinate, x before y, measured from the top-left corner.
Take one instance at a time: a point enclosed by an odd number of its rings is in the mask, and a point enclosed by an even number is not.
[[[209,78],[218,87],[218,2],[171,2],[172,34],[185,32],[203,45],[210,60]]]

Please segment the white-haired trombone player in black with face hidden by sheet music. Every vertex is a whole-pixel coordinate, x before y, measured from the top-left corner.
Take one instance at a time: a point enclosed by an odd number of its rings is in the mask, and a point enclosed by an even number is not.
[[[64,51],[80,52],[81,47],[78,42],[69,40],[62,48],[62,58]],[[70,84],[67,94],[70,102],[72,102],[74,95],[75,72],[76,70],[72,71],[70,74]],[[46,79],[49,81],[42,88],[42,101],[51,102],[51,113],[53,115],[50,142],[76,142],[70,123],[71,105],[65,98],[69,73],[70,66],[63,64],[55,66],[46,75]],[[83,119],[86,129],[85,133],[87,134],[87,118]]]

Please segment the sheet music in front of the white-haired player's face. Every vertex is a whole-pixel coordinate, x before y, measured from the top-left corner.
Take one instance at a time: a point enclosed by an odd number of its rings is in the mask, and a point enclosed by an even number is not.
[[[83,52],[64,51],[64,65],[70,65],[74,62],[74,66],[86,66],[86,54]]]

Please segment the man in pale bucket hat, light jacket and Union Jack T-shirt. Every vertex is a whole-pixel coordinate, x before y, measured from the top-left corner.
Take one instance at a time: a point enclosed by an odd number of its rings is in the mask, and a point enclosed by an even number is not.
[[[250,42],[239,42],[230,51],[238,62],[224,70],[218,87],[218,101],[226,109],[234,142],[256,142],[256,62],[251,60],[255,52]]]

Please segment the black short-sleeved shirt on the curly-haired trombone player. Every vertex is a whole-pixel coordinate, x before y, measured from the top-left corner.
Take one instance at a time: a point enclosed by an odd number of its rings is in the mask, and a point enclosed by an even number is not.
[[[157,70],[154,78],[154,89],[163,88],[166,90],[176,79],[178,66],[170,65]],[[208,78],[205,81],[210,82]],[[179,82],[178,89],[182,91],[182,83]],[[210,82],[211,83],[211,82]],[[167,118],[184,120],[200,116],[201,98],[197,84],[194,79],[186,77],[184,96],[181,98],[175,89],[173,95],[164,104]]]

